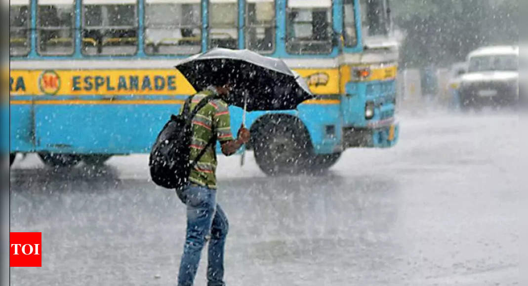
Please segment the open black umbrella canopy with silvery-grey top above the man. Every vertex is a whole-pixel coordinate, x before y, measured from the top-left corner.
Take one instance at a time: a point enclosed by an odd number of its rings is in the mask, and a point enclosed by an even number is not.
[[[233,86],[228,104],[254,110],[295,109],[313,98],[303,77],[282,60],[249,50],[213,50],[186,58],[176,68],[200,91],[218,76],[229,77]]]

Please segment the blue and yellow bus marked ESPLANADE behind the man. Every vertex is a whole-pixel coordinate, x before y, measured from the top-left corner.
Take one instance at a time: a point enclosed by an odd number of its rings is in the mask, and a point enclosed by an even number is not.
[[[315,98],[246,118],[269,175],[398,142],[389,0],[11,0],[10,159],[101,164],[148,153],[195,93],[174,65],[214,47],[284,60]],[[233,132],[242,110],[230,107]]]

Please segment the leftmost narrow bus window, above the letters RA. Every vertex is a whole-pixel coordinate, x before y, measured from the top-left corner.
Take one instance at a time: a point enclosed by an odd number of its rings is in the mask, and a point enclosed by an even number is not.
[[[23,56],[30,52],[30,1],[11,0],[9,6],[9,54]]]

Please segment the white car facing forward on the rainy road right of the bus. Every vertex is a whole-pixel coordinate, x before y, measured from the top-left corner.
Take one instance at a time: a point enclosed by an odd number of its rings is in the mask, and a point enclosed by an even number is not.
[[[482,47],[469,53],[459,78],[461,108],[516,105],[519,101],[518,46]]]

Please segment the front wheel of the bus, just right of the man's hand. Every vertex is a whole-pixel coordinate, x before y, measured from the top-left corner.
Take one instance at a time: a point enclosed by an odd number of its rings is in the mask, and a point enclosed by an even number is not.
[[[297,174],[305,170],[311,147],[303,123],[288,116],[274,116],[252,132],[255,160],[270,176]]]

